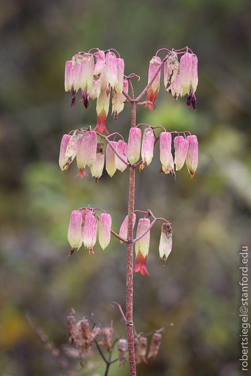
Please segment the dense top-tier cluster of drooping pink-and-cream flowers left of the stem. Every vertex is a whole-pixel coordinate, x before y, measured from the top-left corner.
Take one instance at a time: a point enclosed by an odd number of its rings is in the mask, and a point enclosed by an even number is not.
[[[124,108],[128,93],[128,81],[124,80],[124,60],[116,57],[110,50],[98,50],[94,54],[79,52],[70,61],[66,62],[65,90],[71,91],[71,107],[75,106],[76,93],[81,89],[84,107],[87,109],[88,99],[97,99],[97,131],[102,133],[106,127],[106,118],[109,111],[111,87],[113,96],[113,111],[115,120]],[[94,63],[94,57],[96,64]],[[96,129],[95,128],[95,129]]]

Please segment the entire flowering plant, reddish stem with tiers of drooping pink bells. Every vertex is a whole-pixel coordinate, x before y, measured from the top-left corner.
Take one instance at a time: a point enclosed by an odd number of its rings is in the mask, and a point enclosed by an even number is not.
[[[92,50],[97,52],[92,54],[90,53]],[[162,61],[157,56],[161,50],[167,51],[167,55]],[[158,140],[160,141],[161,172],[166,174],[171,172],[175,178],[174,164],[176,165],[176,171],[178,171],[186,163],[192,178],[198,165],[198,141],[195,135],[191,135],[188,131],[167,132],[161,126],[136,125],[137,104],[145,104],[145,107],[149,108],[149,110],[155,109],[163,65],[165,90],[172,94],[175,99],[178,99],[179,95],[182,97],[188,94],[186,106],[190,107],[192,105],[194,110],[196,110],[196,97],[194,94],[198,84],[198,59],[196,55],[188,47],[181,50],[172,49],[170,51],[167,48],[162,48],[161,50],[157,51],[156,55],[151,59],[148,85],[137,98],[134,98],[132,78],[139,78],[139,76],[135,74],[124,75],[124,61],[118,53],[118,58],[116,57],[113,51],[117,51],[113,48],[106,51],[93,48],[88,53],[79,52],[72,57],[71,61],[67,61],[65,71],[65,89],[66,91],[71,91],[71,107],[75,106],[76,93],[79,89],[81,89],[82,93],[80,102],[83,101],[85,109],[88,107],[89,98],[92,100],[97,99],[97,125],[93,130],[91,127],[81,128],[73,131],[72,135],[70,135],[71,131],[68,135],[63,136],[59,157],[61,170],[67,171],[70,163],[76,157],[81,178],[86,175],[85,167],[87,165],[92,176],[95,176],[96,182],[98,182],[102,175],[105,161],[104,145],[101,140],[107,142],[105,168],[108,174],[112,177],[117,169],[121,172],[127,167],[130,169],[128,215],[120,227],[119,234],[116,234],[111,229],[112,218],[109,214],[106,214],[103,209],[91,208],[89,205],[73,210],[68,230],[68,241],[71,245],[68,257],[71,256],[75,248],[79,249],[82,244],[88,249],[89,253],[94,253],[93,247],[96,243],[98,221],[100,222],[99,242],[103,250],[108,246],[111,234],[115,235],[121,243],[127,243],[126,324],[130,376],[136,375],[135,356],[136,360],[141,358],[145,360],[146,354],[144,337],[141,337],[142,339],[137,336],[134,338],[133,271],[140,271],[142,275],[149,274],[146,268],[146,260],[149,252],[150,229],[157,220],[164,221],[159,245],[163,267],[172,247],[172,229],[167,219],[154,217],[150,209],[147,211],[134,210],[135,169],[139,167],[140,171],[145,167],[145,164],[149,165],[151,163],[154,146]],[[178,55],[182,55],[180,62],[178,61]],[[94,62],[94,57],[96,63]],[[128,94],[129,86],[131,96]],[[111,93],[112,113],[114,113],[115,120],[117,120],[119,112],[123,110],[125,103],[132,105],[128,143],[124,141],[119,133],[109,134],[106,129]],[[146,100],[140,102],[146,93]],[[143,132],[142,145],[139,125],[146,127]],[[161,133],[157,135],[156,131],[159,128]],[[103,134],[104,131],[106,131],[107,135]],[[187,136],[186,133],[188,133]],[[176,136],[173,140],[174,158],[171,153],[172,134]],[[100,141],[97,140],[97,137],[100,137]],[[117,137],[119,137],[118,141],[116,141]],[[142,159],[139,161],[140,152]],[[97,210],[102,210],[104,213],[100,214],[99,217],[96,213]],[[135,212],[142,213],[144,217],[138,221],[136,238],[133,237],[133,228],[136,220]],[[152,222],[146,217],[152,217]],[[134,243],[136,264],[133,268]],[[152,345],[152,349],[150,349],[152,354],[156,353],[156,348],[158,348],[160,343],[158,336],[155,337],[155,345]],[[150,355],[149,359],[151,360],[152,357],[153,355]],[[139,362],[139,360],[137,361]]]

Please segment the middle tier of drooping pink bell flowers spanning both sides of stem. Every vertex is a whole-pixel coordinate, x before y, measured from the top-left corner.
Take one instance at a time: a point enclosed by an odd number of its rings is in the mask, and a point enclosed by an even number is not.
[[[138,127],[131,128],[128,144],[123,140],[108,141],[105,163],[104,145],[103,142],[97,141],[97,133],[92,131],[90,127],[87,130],[77,129],[73,132],[72,136],[63,136],[60,146],[59,165],[62,171],[67,170],[72,160],[76,157],[81,177],[86,175],[84,169],[87,165],[90,168],[92,176],[95,176],[96,182],[98,182],[103,172],[104,163],[106,171],[111,177],[116,170],[123,172],[129,163],[135,165],[139,160],[140,151],[142,157],[142,161],[139,163],[140,170],[144,168],[145,163],[149,165],[153,157],[154,145],[159,139],[161,171],[165,173],[172,172],[175,175],[174,164],[178,171],[186,163],[192,178],[198,166],[197,137],[190,134],[185,138],[180,135],[176,136],[173,140],[175,150],[173,158],[171,153],[172,133],[185,132],[165,131],[161,132],[160,136],[157,137],[154,133],[154,128],[149,126],[143,132],[141,145],[141,129]]]

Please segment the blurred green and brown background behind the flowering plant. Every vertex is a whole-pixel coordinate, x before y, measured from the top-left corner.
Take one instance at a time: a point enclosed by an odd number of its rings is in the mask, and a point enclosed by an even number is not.
[[[137,123],[196,134],[200,152],[192,180],[185,167],[177,181],[159,173],[158,145],[151,165],[136,172],[135,208],[172,222],[173,250],[162,269],[157,222],[147,261],[151,277],[134,274],[135,329],[174,323],[163,332],[156,360],[138,365],[137,374],[240,375],[239,251],[251,246],[250,1],[8,0],[0,30],[0,373],[104,375],[96,349],[84,369],[69,356],[72,307],[94,313],[102,326],[113,320],[117,333],[126,334],[110,305],[125,309],[125,244],[114,238],[105,251],[97,243],[95,255],[82,247],[67,259],[73,209],[102,207],[119,231],[129,171],[112,179],[103,172],[99,184],[88,172],[75,177],[75,162],[61,172],[63,134],[96,125],[96,103],[87,111],[78,101],[70,108],[66,60],[92,47],[116,48],[125,73],[141,76],[133,80],[139,94],[157,49],[189,46],[199,59],[197,111],[165,92],[163,73],[156,110],[137,109]],[[110,132],[127,139],[129,127],[130,106],[116,123],[110,111]],[[59,356],[31,329],[27,312]],[[111,366],[113,375],[128,375],[128,362]]]

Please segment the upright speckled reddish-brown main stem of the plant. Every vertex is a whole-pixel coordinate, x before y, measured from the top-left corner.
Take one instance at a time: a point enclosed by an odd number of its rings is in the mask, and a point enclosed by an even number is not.
[[[136,126],[136,103],[132,103],[132,127]],[[130,167],[129,179],[129,200],[128,200],[128,239],[133,240],[133,220],[134,220],[134,187],[135,169]],[[127,277],[126,277],[126,321],[133,321],[133,268],[134,268],[134,244],[127,244]],[[133,325],[127,325],[127,341],[129,354],[130,376],[136,375],[134,356],[134,330]]]

